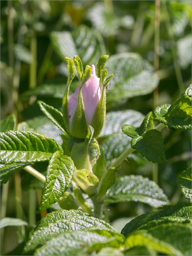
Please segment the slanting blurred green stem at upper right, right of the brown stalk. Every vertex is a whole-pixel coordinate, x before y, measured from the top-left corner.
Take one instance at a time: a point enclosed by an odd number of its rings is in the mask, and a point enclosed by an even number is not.
[[[165,26],[166,26],[167,34],[168,34],[168,38],[169,38],[171,53],[172,53],[172,57],[173,57],[173,63],[174,63],[174,67],[175,67],[177,83],[178,83],[179,91],[180,91],[180,93],[182,93],[184,90],[183,78],[182,78],[181,69],[180,69],[179,62],[178,62],[177,48],[176,48],[175,41],[174,41],[172,26],[171,26],[171,23],[169,20],[169,14],[167,11],[166,1],[162,1],[162,9],[163,9],[163,17],[164,17],[164,21],[165,21]]]

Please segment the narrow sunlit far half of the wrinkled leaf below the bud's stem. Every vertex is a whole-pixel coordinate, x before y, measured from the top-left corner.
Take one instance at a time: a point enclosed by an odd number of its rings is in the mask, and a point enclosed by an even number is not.
[[[78,216],[89,216],[86,212],[82,212],[80,210],[57,210],[52,211],[45,215],[44,218],[40,219],[40,221],[37,223],[37,226],[35,227],[34,231],[41,229],[41,227],[49,226],[50,223],[55,223],[58,220],[61,219],[70,219],[75,218]]]

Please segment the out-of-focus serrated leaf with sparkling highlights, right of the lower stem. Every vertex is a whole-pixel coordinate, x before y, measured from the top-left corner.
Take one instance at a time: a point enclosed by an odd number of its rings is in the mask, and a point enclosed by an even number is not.
[[[155,182],[141,175],[119,177],[115,185],[108,190],[105,201],[111,203],[138,201],[155,208],[163,207],[169,203],[163,190]]]

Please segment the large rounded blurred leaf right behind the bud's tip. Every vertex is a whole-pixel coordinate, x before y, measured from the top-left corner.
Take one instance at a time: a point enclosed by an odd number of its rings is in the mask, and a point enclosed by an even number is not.
[[[153,66],[139,54],[126,52],[109,57],[105,64],[108,73],[114,73],[113,89],[107,95],[110,102],[121,101],[151,93],[158,85],[158,76]]]

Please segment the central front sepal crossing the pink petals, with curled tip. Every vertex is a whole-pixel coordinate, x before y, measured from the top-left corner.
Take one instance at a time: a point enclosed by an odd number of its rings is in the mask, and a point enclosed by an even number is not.
[[[70,125],[70,134],[73,137],[84,139],[88,133],[88,126],[84,112],[83,105],[83,97],[82,97],[82,87],[87,82],[87,80],[91,77],[92,68],[87,65],[84,73],[81,77],[81,86],[79,88],[78,100],[77,100],[77,108],[74,112],[71,125]]]

